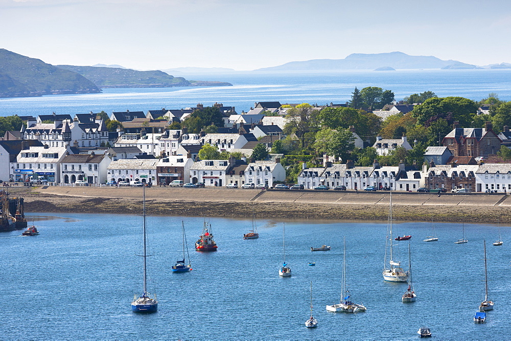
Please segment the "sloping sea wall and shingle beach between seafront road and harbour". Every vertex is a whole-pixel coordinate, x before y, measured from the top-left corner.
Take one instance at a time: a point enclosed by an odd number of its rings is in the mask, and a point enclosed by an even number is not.
[[[142,188],[41,186],[10,187],[25,198],[27,212],[138,213]],[[317,220],[386,220],[389,192],[152,187],[151,214]],[[397,221],[511,224],[511,196],[504,193],[392,193]]]

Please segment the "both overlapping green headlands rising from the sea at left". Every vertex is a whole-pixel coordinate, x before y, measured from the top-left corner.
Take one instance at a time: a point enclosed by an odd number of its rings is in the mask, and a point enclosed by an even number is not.
[[[188,81],[159,70],[137,71],[120,65],[54,66],[0,48],[0,98],[98,93],[101,88],[228,85],[232,84]]]

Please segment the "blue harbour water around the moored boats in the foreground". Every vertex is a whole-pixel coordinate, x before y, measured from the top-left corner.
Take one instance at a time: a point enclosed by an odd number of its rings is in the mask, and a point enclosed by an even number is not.
[[[51,217],[51,214],[38,213]],[[30,221],[29,217],[29,221]],[[174,274],[181,257],[184,220],[193,271]],[[491,245],[496,226],[436,224],[440,241],[423,242],[427,223],[396,224],[412,234],[415,303],[404,304],[405,283],[382,280],[386,222],[286,223],[286,250],[293,276],[281,278],[282,222],[259,220],[260,238],[243,240],[248,220],[211,218],[218,252],[197,253],[201,218],[148,217],[148,289],[158,312],[131,312],[142,289],[140,216],[61,214],[36,221],[41,234],[0,234],[4,304],[3,339],[414,339],[429,326],[439,339],[509,337],[509,248],[511,230],[501,227],[505,244]],[[329,313],[341,281],[342,236],[346,236],[347,283],[365,313]],[[495,310],[489,322],[472,316],[484,298],[482,240],[487,239],[489,285]],[[314,252],[323,243],[332,251]],[[407,242],[400,258],[407,259]],[[316,266],[307,263],[315,261]],[[406,263],[406,261],[404,262]],[[304,326],[313,281],[314,316],[319,327]]]

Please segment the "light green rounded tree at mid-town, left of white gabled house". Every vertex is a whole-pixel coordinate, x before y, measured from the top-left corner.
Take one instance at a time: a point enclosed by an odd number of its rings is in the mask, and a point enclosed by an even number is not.
[[[317,132],[314,149],[319,155],[345,158],[354,146],[353,134],[349,130],[323,129]]]

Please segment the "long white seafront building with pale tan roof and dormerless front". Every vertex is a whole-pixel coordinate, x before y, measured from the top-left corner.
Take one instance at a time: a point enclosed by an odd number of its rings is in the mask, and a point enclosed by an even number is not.
[[[158,160],[156,159],[112,161],[107,167],[108,181],[141,181],[155,183],[157,163]]]

